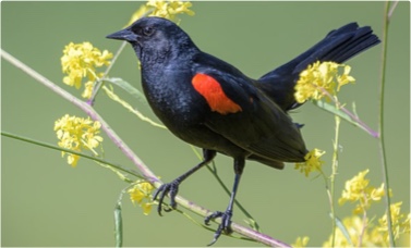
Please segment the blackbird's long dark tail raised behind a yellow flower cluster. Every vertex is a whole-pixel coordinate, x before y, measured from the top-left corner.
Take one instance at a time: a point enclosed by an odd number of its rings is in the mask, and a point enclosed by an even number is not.
[[[379,42],[371,27],[347,24],[331,30],[295,59],[262,76],[257,86],[285,111],[295,109],[300,104],[294,100],[294,85],[300,73],[310,64],[316,61],[342,63]]]

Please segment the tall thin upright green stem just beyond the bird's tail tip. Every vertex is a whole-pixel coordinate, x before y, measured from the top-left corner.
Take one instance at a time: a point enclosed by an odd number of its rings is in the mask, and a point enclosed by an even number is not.
[[[383,52],[382,52],[382,71],[380,71],[380,85],[379,85],[379,120],[378,120],[378,131],[379,131],[379,158],[382,162],[382,171],[384,177],[384,190],[385,190],[385,202],[387,211],[387,224],[388,224],[388,236],[390,247],[395,247],[394,233],[392,233],[392,220],[391,220],[391,199],[389,196],[389,179],[388,179],[388,164],[386,158],[385,149],[385,133],[384,133],[384,102],[385,102],[385,79],[386,79],[386,69],[387,69],[387,47],[388,47],[388,25],[389,25],[389,1],[385,3],[384,10],[384,27],[383,27]]]

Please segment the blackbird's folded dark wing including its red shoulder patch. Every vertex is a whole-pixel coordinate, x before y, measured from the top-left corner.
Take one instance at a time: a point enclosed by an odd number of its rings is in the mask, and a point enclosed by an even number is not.
[[[306,153],[291,119],[244,75],[203,69],[192,84],[210,107],[205,125],[250,152],[285,162],[303,161]]]

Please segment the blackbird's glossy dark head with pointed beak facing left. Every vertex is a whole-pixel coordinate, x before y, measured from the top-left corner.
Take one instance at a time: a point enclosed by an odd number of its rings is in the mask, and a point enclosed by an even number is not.
[[[161,63],[197,50],[189,35],[173,22],[160,17],[143,17],[106,38],[131,44],[141,62]],[[183,52],[185,50],[185,52]]]

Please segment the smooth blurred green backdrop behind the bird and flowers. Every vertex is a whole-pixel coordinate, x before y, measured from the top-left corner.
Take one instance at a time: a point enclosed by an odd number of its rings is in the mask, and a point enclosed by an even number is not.
[[[90,41],[114,52],[119,41],[106,35],[122,28],[142,2],[1,2],[1,47],[70,92],[62,84],[60,57],[70,41]],[[194,17],[182,16],[181,27],[204,51],[259,77],[288,62],[322,39],[330,29],[349,22],[371,25],[382,36],[384,2],[194,2]],[[399,2],[389,29],[385,127],[392,201],[410,209],[410,3]],[[377,128],[378,82],[382,46],[349,61],[356,84],[339,95],[361,119]],[[136,58],[128,46],[110,76],[140,85]],[[154,117],[137,100],[117,92]],[[153,127],[100,94],[96,109],[120,137],[169,182],[198,160],[190,147],[169,132]],[[65,113],[85,116],[70,102],[1,61],[1,129],[57,144],[53,123]],[[292,114],[304,123],[309,148],[327,151],[324,170],[330,172],[334,117],[303,106]],[[106,158],[124,166],[133,164],[105,137]],[[113,246],[113,208],[126,186],[113,173],[81,159],[76,169],[60,152],[1,138],[1,245],[2,246]],[[382,183],[377,140],[346,122],[340,129],[341,153],[336,182],[337,197],[347,179],[370,169],[371,185]],[[217,165],[231,187],[231,160],[218,156]],[[312,176],[313,177],[313,176]],[[258,221],[264,233],[286,243],[311,237],[321,246],[330,234],[329,207],[322,178],[304,177],[289,164],[283,171],[249,162],[238,199]],[[207,172],[190,177],[180,194],[210,210],[223,210],[229,197]],[[337,206],[341,219],[353,206]],[[383,202],[370,215],[384,213]],[[195,216],[197,221],[201,218]],[[245,224],[234,212],[233,221]],[[123,200],[125,246],[204,246],[213,233],[197,227],[176,212],[145,216]],[[258,246],[221,237],[217,246]]]

